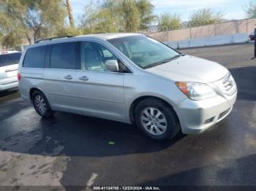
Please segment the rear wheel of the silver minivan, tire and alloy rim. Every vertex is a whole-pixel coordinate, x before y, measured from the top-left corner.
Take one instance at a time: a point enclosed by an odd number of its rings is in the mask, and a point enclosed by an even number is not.
[[[48,103],[47,98],[42,92],[40,92],[39,90],[35,90],[32,93],[31,101],[37,114],[39,114],[41,117],[53,117],[53,114],[55,112],[50,109],[50,104]]]

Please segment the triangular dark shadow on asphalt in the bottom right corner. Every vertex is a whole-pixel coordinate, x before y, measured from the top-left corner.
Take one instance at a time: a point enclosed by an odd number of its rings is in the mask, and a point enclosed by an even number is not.
[[[149,182],[143,182],[140,186],[190,186],[187,190],[194,190],[191,186],[227,187],[227,185],[232,185],[244,186],[240,189],[237,187],[236,190],[246,190],[249,186],[256,185],[255,160],[256,155],[248,155],[238,159],[227,160],[222,163],[206,165],[200,168],[192,168],[191,170],[181,171],[177,174],[170,174],[169,176],[164,176]],[[207,190],[203,187],[197,188],[200,188],[200,190]],[[219,187],[219,190],[222,190],[221,187]]]

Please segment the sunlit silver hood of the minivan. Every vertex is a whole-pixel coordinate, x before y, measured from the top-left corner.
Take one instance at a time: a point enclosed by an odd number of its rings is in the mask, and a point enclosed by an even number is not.
[[[184,55],[176,60],[146,69],[152,74],[180,82],[215,82],[228,73],[219,63]]]

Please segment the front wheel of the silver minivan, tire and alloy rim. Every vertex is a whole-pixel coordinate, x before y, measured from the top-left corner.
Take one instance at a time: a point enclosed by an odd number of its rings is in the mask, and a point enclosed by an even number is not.
[[[173,109],[156,98],[140,101],[135,107],[135,122],[140,130],[154,140],[173,139],[181,129]]]

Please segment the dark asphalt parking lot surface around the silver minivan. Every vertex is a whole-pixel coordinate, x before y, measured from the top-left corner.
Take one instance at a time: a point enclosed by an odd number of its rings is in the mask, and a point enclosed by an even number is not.
[[[252,44],[181,50],[230,69],[238,100],[206,132],[169,142],[132,125],[57,112],[43,120],[17,92],[0,95],[0,185],[256,185]]]

